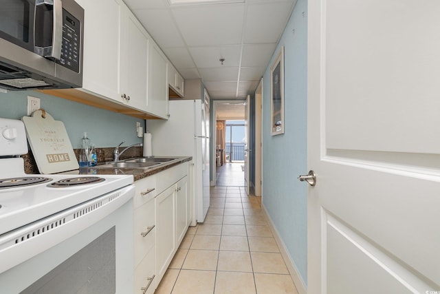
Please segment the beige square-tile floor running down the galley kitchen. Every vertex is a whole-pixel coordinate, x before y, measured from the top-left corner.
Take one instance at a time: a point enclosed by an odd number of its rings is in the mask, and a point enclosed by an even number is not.
[[[260,199],[213,187],[205,222],[188,229],[155,293],[297,293]]]

